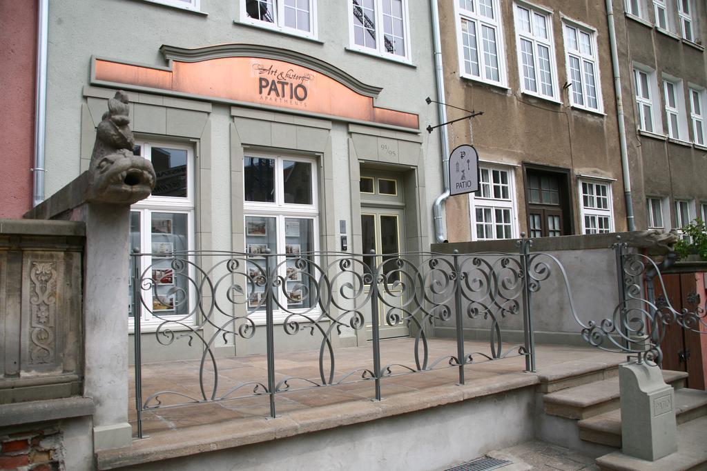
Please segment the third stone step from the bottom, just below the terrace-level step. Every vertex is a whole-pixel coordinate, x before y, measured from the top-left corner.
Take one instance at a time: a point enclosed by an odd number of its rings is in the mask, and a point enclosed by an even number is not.
[[[673,388],[684,386],[687,373],[662,371],[663,381]],[[619,378],[595,381],[544,395],[545,412],[566,419],[587,419],[619,408]]]

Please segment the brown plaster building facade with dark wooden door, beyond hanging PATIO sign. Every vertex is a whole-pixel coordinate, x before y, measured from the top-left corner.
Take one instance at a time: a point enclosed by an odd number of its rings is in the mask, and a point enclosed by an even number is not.
[[[626,230],[603,3],[466,0],[440,16],[446,101],[484,113],[448,129],[481,162],[479,192],[447,203],[450,242]]]

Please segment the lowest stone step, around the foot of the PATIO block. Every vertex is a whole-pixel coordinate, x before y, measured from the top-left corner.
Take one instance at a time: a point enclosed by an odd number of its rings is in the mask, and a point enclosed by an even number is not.
[[[684,471],[707,469],[707,417],[699,417],[677,427],[677,452],[660,460],[645,461],[614,451],[597,458],[602,471]]]

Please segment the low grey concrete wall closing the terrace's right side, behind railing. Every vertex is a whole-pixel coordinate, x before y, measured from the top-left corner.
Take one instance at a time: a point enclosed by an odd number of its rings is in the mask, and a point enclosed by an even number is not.
[[[532,242],[531,255],[541,255],[534,258],[531,270],[544,264],[550,273],[546,280],[539,282],[540,289],[532,293],[531,297],[536,342],[586,345],[580,335],[582,328],[573,316],[569,296],[573,298],[575,313],[583,323],[612,318],[619,304],[616,258],[611,247],[616,242],[616,234],[543,237],[533,239]],[[483,252],[518,254],[515,241],[433,244],[432,249],[445,254],[456,249],[460,254],[474,256]],[[498,256],[481,256],[498,261]],[[568,287],[557,262],[566,273]],[[498,270],[498,273],[503,275],[502,270]],[[522,342],[522,309],[520,314],[503,318],[498,316],[498,321],[506,348]],[[455,325],[454,318],[447,322],[437,322],[434,333],[441,337],[454,337]],[[490,319],[464,316],[464,335],[467,338],[489,340],[490,328]]]

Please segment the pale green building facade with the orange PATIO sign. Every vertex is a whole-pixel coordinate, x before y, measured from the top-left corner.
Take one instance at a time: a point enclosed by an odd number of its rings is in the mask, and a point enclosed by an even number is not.
[[[158,175],[131,215],[133,248],[156,254],[142,269],[182,250],[428,249],[441,164],[438,136],[421,132],[435,118],[426,2],[100,3],[110,20],[96,20],[95,1],[49,11],[47,195],[88,169],[107,98],[125,90],[135,153]],[[153,309],[126,309],[131,326],[134,316],[146,331],[183,321],[167,291]],[[297,309],[301,294],[288,294]],[[353,329],[337,339],[365,340]],[[184,348],[168,356],[200,354]]]

